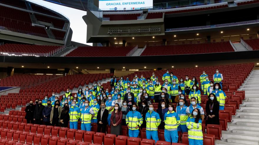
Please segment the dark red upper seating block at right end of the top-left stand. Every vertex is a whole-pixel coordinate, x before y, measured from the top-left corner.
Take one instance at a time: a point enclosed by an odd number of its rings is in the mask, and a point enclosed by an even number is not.
[[[42,15],[38,15],[38,14],[35,14],[35,17],[37,18],[38,21],[53,23],[54,28],[63,29],[63,27],[65,25],[65,21],[63,21],[63,20],[46,17],[46,16],[42,16]]]

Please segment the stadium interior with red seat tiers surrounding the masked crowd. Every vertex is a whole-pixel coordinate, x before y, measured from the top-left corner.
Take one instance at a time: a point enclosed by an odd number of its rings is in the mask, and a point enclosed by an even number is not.
[[[146,128],[136,138],[127,126],[116,136],[109,126],[97,132],[97,123],[91,131],[80,121],[78,129],[31,124],[25,108],[95,82],[111,92],[113,76],[132,81],[155,73],[162,85],[167,70],[179,80],[196,77],[201,90],[202,72],[213,81],[216,69],[224,75],[225,110],[220,125],[202,121],[203,144],[259,144],[259,0],[153,0],[153,7],[130,10],[102,10],[99,0],[44,1],[86,11],[82,35],[92,46],[71,41],[67,16],[26,0],[0,0],[0,145],[189,145],[187,132],[170,143],[160,127],[155,143]],[[204,110],[209,99],[201,94]]]

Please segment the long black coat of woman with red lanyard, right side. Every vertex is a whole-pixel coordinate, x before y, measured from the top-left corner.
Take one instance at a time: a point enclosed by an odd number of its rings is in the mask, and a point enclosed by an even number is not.
[[[219,103],[214,102],[213,103],[213,108],[212,112],[210,112],[210,101],[207,101],[206,103],[206,115],[207,115],[207,120],[206,124],[218,124],[220,125],[220,120],[219,120]],[[210,118],[209,115],[215,115],[215,117]]]

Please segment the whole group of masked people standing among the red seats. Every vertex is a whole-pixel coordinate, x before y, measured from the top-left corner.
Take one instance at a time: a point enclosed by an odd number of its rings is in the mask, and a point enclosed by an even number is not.
[[[55,125],[91,131],[91,123],[97,123],[97,132],[121,135],[121,126],[129,128],[129,137],[138,137],[139,128],[146,128],[147,139],[158,140],[157,130],[165,129],[165,140],[178,141],[178,132],[188,132],[189,144],[202,144],[202,120],[206,124],[219,124],[219,110],[224,110],[226,95],[221,89],[223,75],[216,70],[213,81],[203,71],[200,76],[201,90],[196,77],[188,76],[180,81],[169,70],[163,75],[163,84],[152,74],[147,80],[135,75],[132,81],[127,77],[119,80],[113,76],[111,90],[104,89],[101,83],[79,88],[78,92],[63,94],[62,99],[52,93],[50,98],[32,101],[26,107],[27,123]],[[200,106],[201,92],[208,95],[205,111]],[[185,95],[189,95],[190,106]],[[187,98],[188,99],[188,98]],[[159,103],[158,108],[154,102]],[[170,103],[171,102],[171,103]],[[175,104],[177,104],[175,106]],[[206,112],[206,113],[205,113]],[[206,117],[206,118],[205,118]]]

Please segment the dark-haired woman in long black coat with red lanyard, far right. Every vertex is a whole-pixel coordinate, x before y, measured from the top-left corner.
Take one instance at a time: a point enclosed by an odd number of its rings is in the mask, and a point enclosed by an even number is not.
[[[207,124],[218,124],[220,125],[219,120],[219,104],[217,101],[217,97],[215,94],[210,93],[209,95],[210,99],[206,102],[206,125]]]

